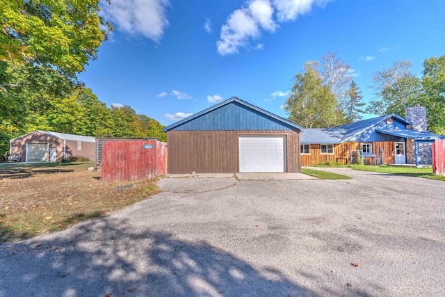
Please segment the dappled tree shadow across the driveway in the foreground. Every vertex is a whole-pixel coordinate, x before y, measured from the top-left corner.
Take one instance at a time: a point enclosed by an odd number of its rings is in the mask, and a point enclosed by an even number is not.
[[[313,296],[204,241],[100,218],[0,246],[0,296]]]

